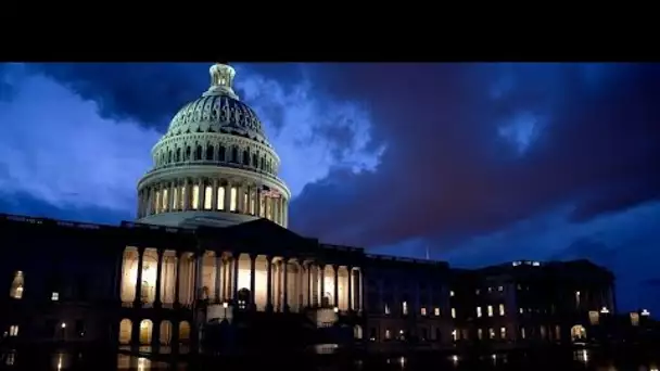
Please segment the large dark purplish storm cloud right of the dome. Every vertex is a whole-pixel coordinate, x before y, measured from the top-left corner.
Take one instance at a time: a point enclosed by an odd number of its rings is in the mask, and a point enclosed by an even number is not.
[[[389,151],[377,174],[306,187],[291,220],[310,234],[389,244],[488,232],[566,202],[585,220],[658,195],[656,65],[383,64],[323,74],[329,91],[373,110],[375,138]],[[521,113],[532,129],[516,123]],[[507,126],[518,137],[503,137]]]

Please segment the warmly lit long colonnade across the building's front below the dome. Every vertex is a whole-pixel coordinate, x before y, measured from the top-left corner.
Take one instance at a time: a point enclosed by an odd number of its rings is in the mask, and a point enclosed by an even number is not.
[[[190,306],[195,299],[239,300],[253,310],[305,307],[360,310],[359,267],[245,253],[201,254],[126,247],[120,298],[128,306]]]

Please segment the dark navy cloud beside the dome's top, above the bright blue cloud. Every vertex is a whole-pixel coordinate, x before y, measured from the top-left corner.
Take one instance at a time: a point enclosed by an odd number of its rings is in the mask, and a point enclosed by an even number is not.
[[[135,119],[163,129],[186,102],[208,85],[207,63],[39,63],[29,65],[99,103],[111,119]],[[296,66],[256,64],[255,68],[296,76]],[[1,87],[1,86],[0,86]]]

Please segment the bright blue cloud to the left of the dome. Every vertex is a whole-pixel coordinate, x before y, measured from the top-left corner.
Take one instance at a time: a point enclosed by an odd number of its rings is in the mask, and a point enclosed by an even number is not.
[[[98,115],[94,102],[21,65],[14,94],[0,102],[0,192],[58,208],[135,212],[136,184],[150,165],[153,129]]]

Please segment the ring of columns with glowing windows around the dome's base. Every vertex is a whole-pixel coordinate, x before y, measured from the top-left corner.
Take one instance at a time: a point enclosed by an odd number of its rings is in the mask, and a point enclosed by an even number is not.
[[[288,223],[288,200],[262,187],[227,179],[183,178],[161,181],[138,192],[138,216],[173,212],[228,212]]]

